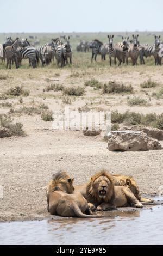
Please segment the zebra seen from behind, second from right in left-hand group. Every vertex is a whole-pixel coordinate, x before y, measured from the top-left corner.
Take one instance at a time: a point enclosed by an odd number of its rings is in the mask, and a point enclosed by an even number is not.
[[[56,50],[56,59],[57,59],[57,66],[59,63],[61,64],[61,68],[66,65],[67,63],[67,51],[64,44],[59,44]]]

